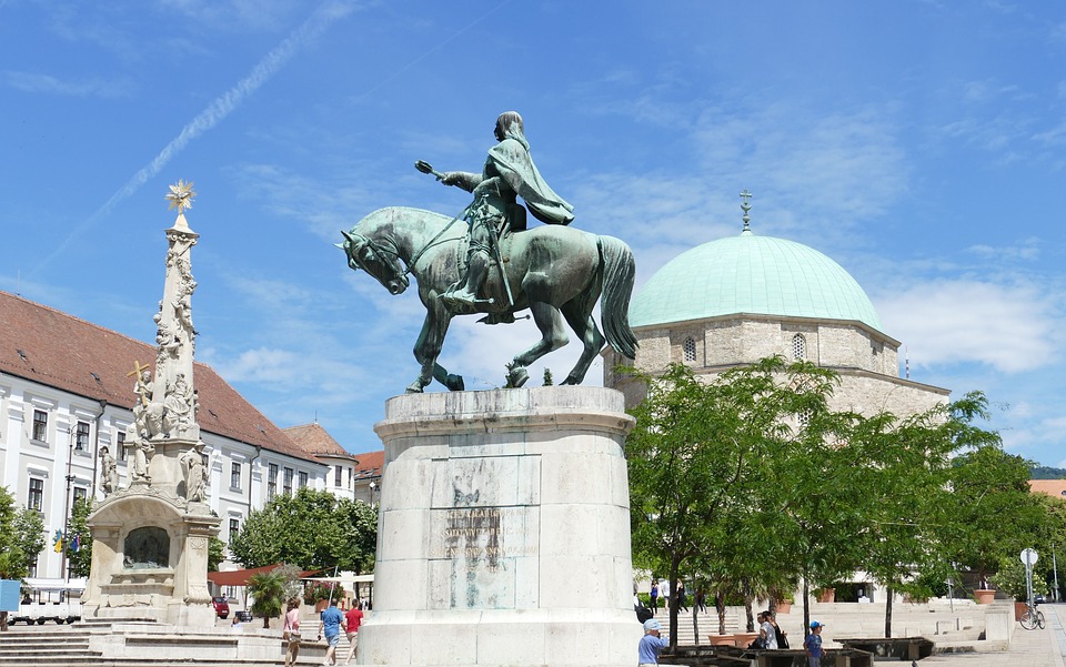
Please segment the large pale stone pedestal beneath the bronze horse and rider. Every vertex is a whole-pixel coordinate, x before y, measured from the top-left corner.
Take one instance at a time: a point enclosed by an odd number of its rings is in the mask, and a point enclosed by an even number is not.
[[[390,400],[359,663],[633,665],[632,426],[602,387]]]

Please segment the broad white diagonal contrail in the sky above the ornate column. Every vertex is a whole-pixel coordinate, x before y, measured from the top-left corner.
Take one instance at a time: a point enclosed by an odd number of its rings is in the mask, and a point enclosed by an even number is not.
[[[137,192],[141,185],[150,179],[157,176],[171,159],[180,153],[189,142],[197,139],[211,128],[215,127],[237,109],[244,98],[249,97],[266,83],[279,70],[292,58],[296,49],[310,40],[322,34],[336,20],[348,16],[355,9],[351,1],[332,0],[324,2],[315,10],[302,26],[296,28],[292,34],[286,37],[280,44],[274,47],[259,63],[252,69],[248,77],[238,81],[237,85],[214,99],[208,108],[201,111],[192,119],[181,132],[168,143],[147,166],[133,174],[125,185],[111,195],[105,204],[100,206],[88,220],[79,224],[67,235],[67,239],[60,243],[56,250],[42,260],[28,276],[37,273],[51,262],[57,255],[62,253],[73,240],[86,230],[97,223],[101,218],[111,212],[115,204]]]

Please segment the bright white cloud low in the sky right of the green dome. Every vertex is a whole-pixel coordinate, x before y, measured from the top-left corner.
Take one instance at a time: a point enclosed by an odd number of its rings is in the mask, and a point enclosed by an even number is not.
[[[1049,297],[1034,287],[934,281],[883,296],[877,312],[906,342],[912,365],[977,362],[1017,373],[1057,357],[1060,323]]]

